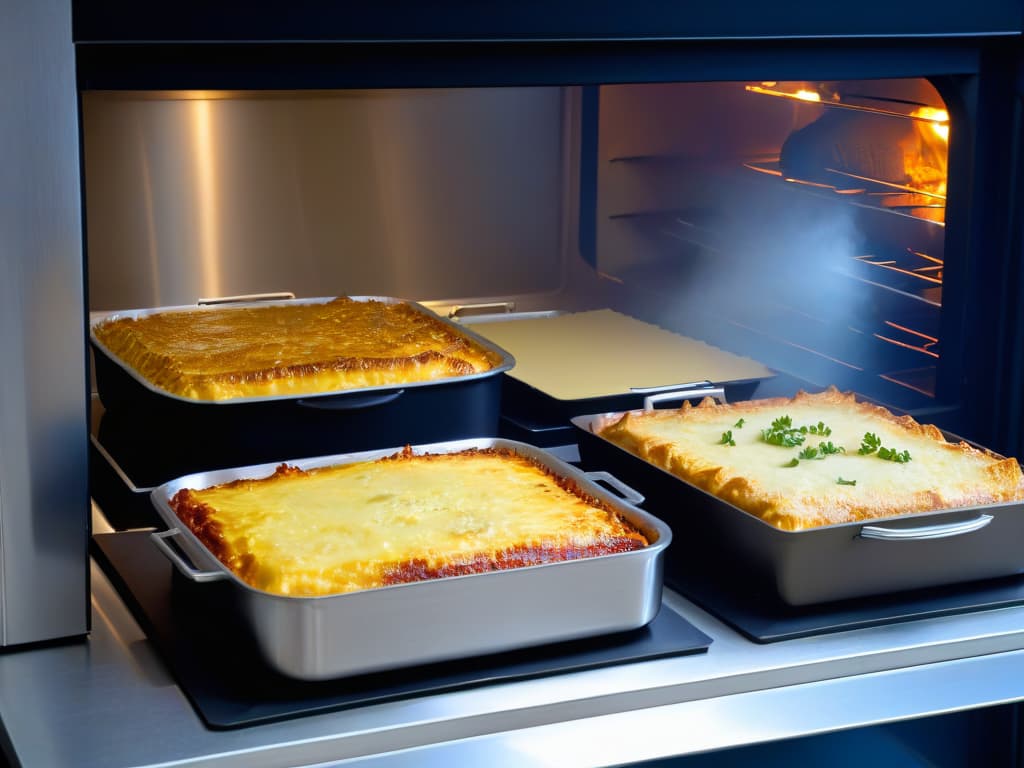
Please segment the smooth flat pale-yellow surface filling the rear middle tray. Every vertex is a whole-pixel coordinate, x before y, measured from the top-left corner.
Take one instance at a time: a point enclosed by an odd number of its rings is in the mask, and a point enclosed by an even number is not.
[[[773,375],[749,357],[611,309],[481,323],[473,329],[515,356],[509,376],[558,399]]]

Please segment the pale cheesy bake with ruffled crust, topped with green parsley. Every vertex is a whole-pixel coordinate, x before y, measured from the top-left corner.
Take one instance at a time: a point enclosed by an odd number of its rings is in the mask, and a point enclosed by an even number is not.
[[[766,439],[763,430],[785,417],[794,429],[807,428],[802,443]],[[784,530],[1024,499],[1016,459],[947,442],[932,425],[835,388],[793,398],[731,404],[707,398],[695,408],[687,402],[673,411],[631,412],[595,423],[594,431]],[[865,433],[883,449],[907,452],[909,461],[862,453]],[[805,451],[816,456],[801,458]]]

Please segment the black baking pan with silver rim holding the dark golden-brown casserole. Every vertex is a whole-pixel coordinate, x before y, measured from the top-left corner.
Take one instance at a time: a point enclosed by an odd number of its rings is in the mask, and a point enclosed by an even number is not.
[[[332,298],[245,302],[231,306],[324,303]],[[402,299],[351,298],[407,303],[419,311],[438,316],[416,302]],[[161,440],[165,452],[189,458],[197,469],[498,434],[501,374],[512,368],[515,360],[494,343],[443,317],[438,319],[498,354],[500,365],[477,374],[401,385],[227,400],[194,400],[155,387],[112,354],[91,333],[97,324],[119,316],[140,317],[156,312],[209,311],[211,308],[169,306],[119,311],[92,318],[90,342],[96,389],[105,410],[105,420],[136,425],[135,429],[152,433],[155,439]]]

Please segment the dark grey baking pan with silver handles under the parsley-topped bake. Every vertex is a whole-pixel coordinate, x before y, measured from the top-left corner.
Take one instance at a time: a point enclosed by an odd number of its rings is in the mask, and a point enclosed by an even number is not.
[[[781,530],[594,433],[622,415],[573,418],[580,456],[641,490],[672,526],[670,586],[706,574],[796,606],[1024,572],[1024,503]]]

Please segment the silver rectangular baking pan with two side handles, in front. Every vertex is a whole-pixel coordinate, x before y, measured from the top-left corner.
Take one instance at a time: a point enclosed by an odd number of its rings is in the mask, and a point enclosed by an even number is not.
[[[642,501],[604,472],[584,473],[525,443],[478,438],[418,445],[416,453],[499,447],[528,457],[609,504],[650,545],[632,552],[509,570],[401,584],[325,597],[287,597],[256,590],[228,570],[190,530],[169,500],[183,487],[263,477],[272,465],[202,472],[154,489],[167,524],[153,541],[187,580],[226,582],[230,604],[267,664],[293,678],[318,680],[637,629],[660,607],[663,553],[669,527],[635,506]],[[396,449],[290,462],[303,469],[372,461]],[[598,484],[607,482],[623,494]],[[625,499],[625,500],[624,500]],[[628,500],[628,501],[626,501]],[[169,546],[173,540],[185,558]]]

